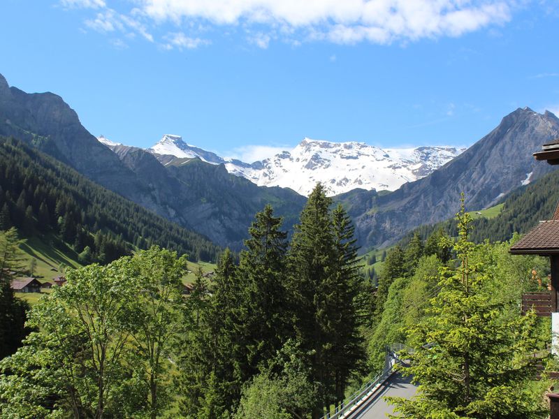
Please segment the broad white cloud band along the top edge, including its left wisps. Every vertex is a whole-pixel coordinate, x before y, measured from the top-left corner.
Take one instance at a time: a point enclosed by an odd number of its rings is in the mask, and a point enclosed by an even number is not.
[[[110,31],[103,20],[116,0],[59,0],[65,8],[101,10],[88,27]],[[183,32],[193,23],[245,31],[249,43],[266,48],[278,39],[293,45],[408,43],[421,38],[461,36],[511,20],[516,0],[134,0],[116,13],[127,29],[153,41],[151,29],[169,23]],[[116,6],[113,6],[116,7]],[[194,25],[195,26],[195,25]],[[256,34],[256,35],[255,35]],[[196,39],[190,34],[191,39]],[[167,45],[167,44],[166,44]]]

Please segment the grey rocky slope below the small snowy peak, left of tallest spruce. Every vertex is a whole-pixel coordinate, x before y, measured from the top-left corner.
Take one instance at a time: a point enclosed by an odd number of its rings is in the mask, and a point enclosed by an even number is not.
[[[161,205],[171,203],[178,209],[183,225],[234,250],[242,248],[254,214],[266,204],[273,205],[275,213],[284,217],[284,228],[291,230],[305,203],[303,196],[290,189],[256,186],[231,175],[223,164],[174,158],[163,166],[144,149],[125,145],[110,148],[141,182],[154,186],[154,196]]]

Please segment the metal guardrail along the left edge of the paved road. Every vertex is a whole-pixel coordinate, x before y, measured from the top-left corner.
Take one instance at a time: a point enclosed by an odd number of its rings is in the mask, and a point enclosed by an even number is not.
[[[326,415],[322,416],[321,419],[340,419],[344,418],[347,413],[352,411],[354,407],[361,404],[363,399],[369,395],[369,393],[377,387],[380,383],[382,383],[386,378],[390,376],[394,372],[394,365],[396,361],[400,360],[398,358],[397,353],[402,351],[412,351],[411,348],[403,344],[392,344],[386,348],[386,355],[385,355],[385,362],[384,362],[384,369],[380,374],[372,378],[371,381],[365,383],[359,390],[354,392],[349,397],[346,397],[344,401],[334,408],[334,413],[326,413]]]

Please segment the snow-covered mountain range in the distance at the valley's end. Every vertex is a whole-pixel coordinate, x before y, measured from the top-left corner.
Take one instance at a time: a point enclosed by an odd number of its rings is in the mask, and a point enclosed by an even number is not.
[[[106,138],[99,140],[103,144],[108,142]],[[259,186],[282,186],[308,196],[317,182],[324,184],[331,195],[356,188],[393,191],[405,182],[425,177],[463,150],[457,147],[381,149],[363,142],[305,138],[291,151],[249,164],[189,145],[180,135],[166,134],[147,151],[164,165],[176,161],[170,156],[198,158],[223,164],[231,174],[246,177]]]

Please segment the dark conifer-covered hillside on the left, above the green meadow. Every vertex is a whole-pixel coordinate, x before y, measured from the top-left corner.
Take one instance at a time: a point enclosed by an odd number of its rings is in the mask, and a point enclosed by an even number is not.
[[[219,253],[205,237],[18,140],[0,138],[0,173],[0,230],[13,225],[27,236],[54,231],[83,253],[84,263],[108,263],[152,244],[186,253],[191,260],[214,261]]]

